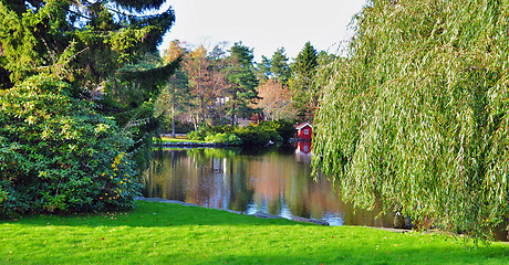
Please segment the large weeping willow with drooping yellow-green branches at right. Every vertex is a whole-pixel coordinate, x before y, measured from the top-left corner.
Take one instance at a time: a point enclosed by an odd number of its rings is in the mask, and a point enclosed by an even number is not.
[[[488,239],[509,202],[509,1],[374,0],[326,75],[313,167],[359,208]]]

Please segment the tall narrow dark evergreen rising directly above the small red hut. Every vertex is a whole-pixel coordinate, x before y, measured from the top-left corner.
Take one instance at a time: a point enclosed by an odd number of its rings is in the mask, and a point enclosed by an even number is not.
[[[310,42],[307,42],[291,65],[292,78],[289,83],[292,91],[293,106],[297,109],[297,117],[300,121],[312,120],[314,117],[314,103],[311,93],[318,66],[316,50]]]

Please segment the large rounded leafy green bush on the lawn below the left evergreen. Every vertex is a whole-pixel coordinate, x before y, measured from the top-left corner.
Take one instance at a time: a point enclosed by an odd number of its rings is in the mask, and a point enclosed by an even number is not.
[[[132,139],[70,88],[38,75],[0,92],[0,215],[134,206]]]

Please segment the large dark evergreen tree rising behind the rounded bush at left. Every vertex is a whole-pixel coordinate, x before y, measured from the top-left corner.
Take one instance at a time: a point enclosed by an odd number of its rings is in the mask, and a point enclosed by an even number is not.
[[[168,8],[144,15],[162,3],[1,1],[2,88],[28,76],[52,72],[72,84],[73,97],[95,100],[97,110],[113,116],[121,127],[136,124],[135,149],[148,148],[150,132],[157,126],[157,120],[150,118],[153,103],[178,65],[164,64],[156,54],[163,34],[175,21],[174,11]],[[60,55],[69,50],[74,53]],[[137,158],[142,167],[145,155],[142,151]]]

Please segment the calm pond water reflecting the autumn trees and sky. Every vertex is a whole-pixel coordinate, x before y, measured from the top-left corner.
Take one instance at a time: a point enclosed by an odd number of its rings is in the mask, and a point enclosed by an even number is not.
[[[311,178],[311,146],[270,149],[180,149],[155,151],[144,176],[145,197],[185,201],[247,214],[309,218],[331,225],[394,226],[381,209],[354,211],[331,181]]]

